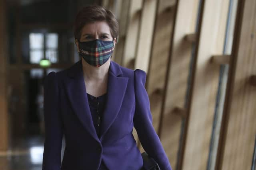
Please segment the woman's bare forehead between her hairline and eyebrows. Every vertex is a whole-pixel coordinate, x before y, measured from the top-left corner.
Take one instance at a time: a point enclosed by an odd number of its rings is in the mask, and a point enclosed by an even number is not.
[[[81,30],[81,34],[94,34],[94,33],[108,33],[110,34],[110,27],[106,21],[97,21],[87,23]]]

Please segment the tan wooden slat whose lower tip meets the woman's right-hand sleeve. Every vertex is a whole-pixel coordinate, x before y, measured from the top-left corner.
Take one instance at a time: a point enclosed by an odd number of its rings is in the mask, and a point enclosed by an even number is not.
[[[160,123],[167,61],[170,52],[170,39],[172,37],[174,23],[175,2],[176,0],[158,1],[146,81],[146,90],[150,100],[153,126],[157,133]],[[140,147],[140,150],[141,152],[144,151],[142,147]]]

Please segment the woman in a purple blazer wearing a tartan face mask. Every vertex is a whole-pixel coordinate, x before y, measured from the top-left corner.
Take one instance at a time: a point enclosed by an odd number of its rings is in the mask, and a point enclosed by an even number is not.
[[[133,127],[161,170],[171,170],[152,126],[146,73],[111,61],[118,39],[112,12],[83,8],[74,37],[82,59],[67,70],[50,72],[44,82],[43,170],[140,170],[143,160]]]

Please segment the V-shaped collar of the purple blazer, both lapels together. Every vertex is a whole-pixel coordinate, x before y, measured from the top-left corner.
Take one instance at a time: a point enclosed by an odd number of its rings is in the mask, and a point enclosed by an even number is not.
[[[128,77],[122,77],[122,70],[119,64],[114,61],[110,62],[108,72],[108,92],[106,98],[106,106],[103,112],[102,127],[100,131],[100,139],[116,119],[126,92]],[[68,71],[69,80],[66,81],[66,92],[70,100],[72,109],[78,119],[84,125],[85,129],[96,139],[100,141],[94,124],[88,104],[86,86],[82,71],[82,61],[75,63]]]

